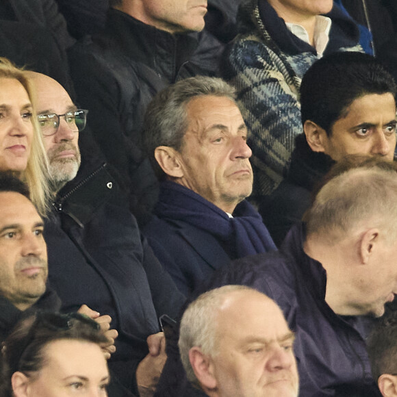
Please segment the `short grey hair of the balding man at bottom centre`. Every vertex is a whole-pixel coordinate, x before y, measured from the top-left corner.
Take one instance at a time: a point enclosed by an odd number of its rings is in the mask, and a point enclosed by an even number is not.
[[[246,285],[225,285],[201,294],[183,313],[179,329],[179,353],[188,380],[199,385],[190,364],[189,350],[197,346],[205,355],[216,356],[218,350],[218,310],[232,292],[255,291]]]

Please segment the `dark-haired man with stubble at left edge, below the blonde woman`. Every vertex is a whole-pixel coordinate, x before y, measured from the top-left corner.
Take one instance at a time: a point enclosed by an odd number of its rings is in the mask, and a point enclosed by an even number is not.
[[[27,185],[0,172],[0,340],[23,313],[60,309],[60,299],[46,286],[43,229]]]

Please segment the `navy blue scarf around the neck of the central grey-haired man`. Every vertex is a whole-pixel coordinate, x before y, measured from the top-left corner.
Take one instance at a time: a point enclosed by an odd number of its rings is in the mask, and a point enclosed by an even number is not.
[[[155,214],[162,219],[182,220],[211,233],[234,247],[239,258],[277,249],[261,216],[246,200],[235,207],[233,218],[229,218],[226,212],[199,194],[166,181],[161,185]]]

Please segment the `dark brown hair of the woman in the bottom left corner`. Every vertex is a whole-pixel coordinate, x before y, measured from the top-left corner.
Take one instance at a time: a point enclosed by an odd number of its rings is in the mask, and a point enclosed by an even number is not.
[[[0,395],[12,397],[11,376],[34,376],[46,363],[44,348],[57,340],[79,340],[101,346],[107,337],[94,320],[79,313],[38,311],[16,324],[0,354]]]

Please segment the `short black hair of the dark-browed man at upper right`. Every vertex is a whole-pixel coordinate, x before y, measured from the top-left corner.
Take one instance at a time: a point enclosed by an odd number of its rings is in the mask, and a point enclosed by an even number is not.
[[[302,124],[311,120],[331,136],[339,120],[355,99],[368,94],[396,97],[396,83],[372,55],[342,51],[316,61],[300,85]]]

